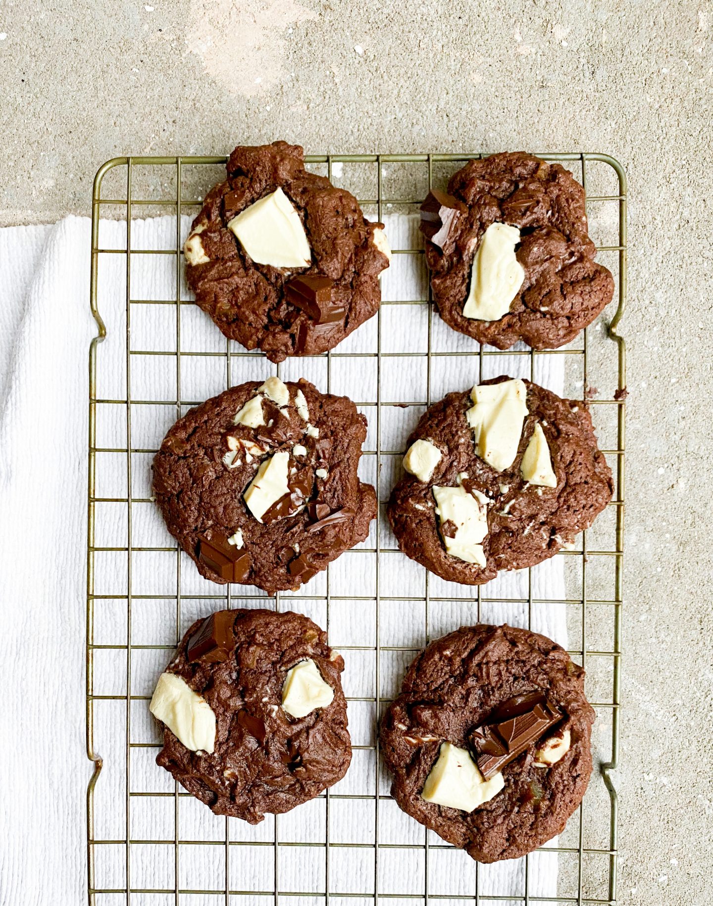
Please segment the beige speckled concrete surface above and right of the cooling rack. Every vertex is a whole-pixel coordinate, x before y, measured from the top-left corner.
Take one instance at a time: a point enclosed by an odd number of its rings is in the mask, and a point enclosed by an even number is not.
[[[0,224],[115,155],[605,151],[630,187],[620,902],[713,902],[713,7],[3,0]]]

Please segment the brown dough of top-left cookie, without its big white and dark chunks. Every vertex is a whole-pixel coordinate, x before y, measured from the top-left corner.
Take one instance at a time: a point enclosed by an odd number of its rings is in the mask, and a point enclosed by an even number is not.
[[[257,264],[228,228],[233,217],[269,193],[282,189],[296,209],[311,250],[307,266]],[[377,246],[383,228],[366,220],[356,198],[327,178],[304,168],[298,145],[238,147],[230,155],[227,179],[210,189],[193,221],[186,279],[196,304],[222,333],[256,347],[271,361],[288,355],[317,355],[334,348],[378,310],[378,275],[388,256]],[[191,239],[191,237],[195,237]],[[286,284],[295,276],[328,277],[340,319],[316,323],[289,301]]]

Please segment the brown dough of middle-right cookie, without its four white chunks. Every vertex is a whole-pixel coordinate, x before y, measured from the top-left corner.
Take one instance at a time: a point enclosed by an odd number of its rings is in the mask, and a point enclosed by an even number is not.
[[[489,386],[507,377],[483,381]],[[563,400],[531,381],[528,415],[512,466],[499,471],[475,452],[474,432],[466,411],[470,393],[449,393],[426,410],[407,441],[424,439],[441,457],[427,481],[405,475],[394,487],[388,517],[400,549],[450,582],[479,585],[500,570],[539,564],[594,521],[612,494],[611,470],[597,447],[591,415],[581,400]],[[556,487],[536,487],[523,479],[525,450],[539,424],[549,445]],[[484,565],[448,554],[439,532],[434,487],[456,487],[466,475],[469,487],[488,498]]]

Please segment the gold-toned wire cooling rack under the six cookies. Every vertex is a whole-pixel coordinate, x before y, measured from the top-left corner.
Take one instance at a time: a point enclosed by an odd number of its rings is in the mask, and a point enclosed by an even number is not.
[[[415,218],[428,188],[443,188],[450,173],[478,154],[327,155],[308,157],[308,166],[345,186],[360,199],[366,216],[384,220],[405,214]],[[598,322],[558,351],[515,348],[498,352],[444,328],[433,311],[425,275],[423,244],[415,232],[394,248],[392,268],[409,265],[420,275],[416,298],[384,302],[373,319],[372,333],[363,325],[366,346],[347,347],[318,357],[288,360],[277,369],[258,352],[246,352],[226,341],[217,329],[210,349],[196,348],[191,324],[200,313],[182,281],[182,239],[188,217],[200,199],[220,181],[223,157],[135,157],[107,161],[93,187],[92,289],[93,316],[99,328],[89,356],[89,485],[87,547],[86,734],[93,775],[87,790],[88,891],[90,904],[218,903],[234,906],[306,906],[307,903],[351,906],[353,901],[383,900],[394,906],[414,902],[485,901],[502,903],[616,902],[617,796],[610,772],[619,759],[620,637],[624,518],[625,346],[617,333],[626,299],[626,178],[620,164],[603,154],[541,154],[571,169],[587,192],[590,232],[599,260],[615,276],[617,293]],[[135,241],[134,217],[169,215],[166,247],[142,249]],[[119,242],[103,241],[106,220],[125,221]],[[114,224],[113,226],[117,226]],[[115,232],[115,231],[114,231]],[[169,291],[144,293],[136,286],[134,265],[144,255],[161,255],[167,265]],[[145,258],[144,258],[145,260]],[[124,273],[122,317],[104,326],[103,264]],[[398,306],[398,307],[396,307]],[[171,325],[166,348],[151,345],[141,325],[148,309]],[[396,319],[413,318],[421,339],[409,351],[388,342]],[[104,386],[108,359],[100,345],[112,339],[120,347],[119,390]],[[106,345],[106,344],[105,344]],[[360,350],[360,351],[355,351]],[[490,583],[483,587],[444,587],[417,564],[416,576],[399,587],[389,579],[396,551],[385,518],[385,501],[397,474],[405,437],[432,399],[444,390],[462,389],[484,376],[500,373],[498,357],[513,373],[537,381],[543,363],[562,357],[566,396],[591,406],[601,448],[612,467],[615,493],[610,506],[577,547],[562,551],[566,594],[552,600],[539,582],[538,570],[523,571],[523,591],[503,599]],[[348,384],[352,366],[371,369],[373,382]],[[358,361],[357,361],[358,360]],[[191,367],[200,361],[218,374],[217,386],[196,384]],[[444,363],[456,377],[444,386]],[[165,378],[137,380],[159,363]],[[335,578],[332,564],[317,592],[305,586],[297,594],[261,595],[255,589],[210,583],[195,586],[196,573],[161,527],[145,528],[153,518],[149,471],[151,455],[171,422],[190,405],[240,381],[261,378],[266,368],[285,379],[305,373],[320,390],[347,392],[369,420],[362,460],[366,477],[376,483],[381,502],[376,526],[363,545],[343,557],[360,557],[364,583],[354,593]],[[295,371],[297,369],[297,371]],[[494,369],[494,370],[493,370]],[[417,375],[414,381],[408,374]],[[267,373],[269,373],[269,371]],[[400,372],[414,392],[395,394],[392,376]],[[461,373],[462,372],[462,373]],[[172,376],[171,376],[172,375]],[[220,377],[222,375],[222,377]],[[144,375],[145,376],[145,375]],[[148,391],[146,390],[148,386]],[[165,390],[168,386],[170,389]],[[200,387],[200,398],[191,391]],[[597,390],[600,388],[601,390]],[[362,398],[362,394],[364,395]],[[147,442],[145,426],[155,423]],[[112,427],[107,427],[112,426]],[[151,434],[151,432],[149,432]],[[105,486],[104,474],[121,475]],[[142,490],[142,488],[144,488]],[[111,531],[109,529],[112,529]],[[113,532],[113,534],[112,534]],[[162,534],[161,534],[162,533]],[[148,541],[147,541],[148,539]],[[168,559],[167,559],[168,558]],[[168,564],[168,566],[166,565]],[[338,567],[337,567],[338,568]],[[145,584],[139,573],[169,575],[165,586]],[[418,572],[420,571],[420,572]],[[317,581],[317,580],[313,580]],[[347,591],[347,593],[345,593]],[[352,660],[366,659],[371,685],[363,695],[347,695],[354,745],[347,773],[356,779],[320,796],[288,815],[268,816],[257,829],[237,819],[218,818],[171,778],[153,766],[160,745],[148,715],[153,679],[170,660],[171,650],[197,615],[224,606],[294,607],[313,615],[330,632],[330,641],[345,652],[347,673]],[[393,697],[403,670],[432,637],[464,622],[516,622],[538,628],[542,607],[565,614],[569,648],[587,670],[586,689],[597,712],[593,737],[595,771],[590,789],[555,846],[523,859],[516,887],[493,892],[490,866],[478,866],[431,832],[398,813],[388,795],[388,778],[379,766],[376,724],[385,702]],[[310,610],[311,608],[311,610]],[[394,641],[394,622],[414,624],[402,643]],[[366,626],[366,629],[364,628]],[[158,627],[158,628],[157,628]],[[372,633],[369,635],[369,633]],[[333,638],[335,633],[340,637]],[[340,642],[344,641],[344,644]],[[363,641],[363,644],[348,642]],[[406,644],[403,643],[406,641]],[[410,643],[409,643],[410,641]],[[148,664],[148,666],[147,666]],[[347,678],[345,673],[345,678]],[[367,684],[368,685],[368,684]],[[354,689],[350,691],[355,691]],[[149,779],[147,780],[146,777]],[[138,779],[137,779],[138,778]],[[358,809],[366,809],[359,812]],[[347,809],[347,811],[345,811]],[[363,819],[359,815],[366,814]],[[296,821],[301,823],[295,833]],[[346,878],[346,851],[357,868]],[[532,889],[539,856],[557,861],[556,891]],[[397,861],[395,862],[395,858]],[[443,881],[435,888],[434,878]],[[253,860],[258,867],[246,866]],[[396,866],[396,868],[395,868]],[[534,866],[534,867],[533,867]],[[439,871],[436,872],[436,867]],[[355,904],[356,906],[356,904]]]

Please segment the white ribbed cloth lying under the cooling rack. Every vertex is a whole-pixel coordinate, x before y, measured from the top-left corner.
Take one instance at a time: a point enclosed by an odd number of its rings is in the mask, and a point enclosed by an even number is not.
[[[185,235],[187,220],[181,224]],[[0,903],[9,906],[54,901],[73,904],[85,896],[85,798],[91,775],[84,754],[84,626],[87,475],[87,355],[96,333],[89,310],[90,223],[70,217],[55,226],[13,227],[0,230],[0,387],[3,391],[0,417],[0,481],[2,519],[0,558],[3,565],[3,626],[0,657],[6,674],[15,679],[5,700],[5,744],[0,747],[0,776],[4,781],[2,819],[5,830],[0,855],[2,881]],[[415,218],[387,216],[386,232],[392,246],[413,242]],[[100,245],[122,248],[125,224],[103,222]],[[161,217],[132,222],[132,248],[171,248],[175,243],[175,219]],[[170,255],[135,255],[132,261],[132,299],[144,302],[175,297],[176,261]],[[98,395],[125,399],[126,323],[124,255],[103,255],[100,262],[99,307],[107,326],[107,339],[97,351]],[[407,302],[425,297],[423,257],[395,255],[383,282],[386,300]],[[189,298],[185,286],[181,297]],[[181,351],[224,352],[226,342],[210,321],[194,306],[181,306]],[[131,343],[134,351],[175,352],[176,306],[132,305]],[[425,400],[428,340],[427,307],[385,305],[381,314],[383,352],[414,352],[413,358],[388,358],[381,363],[381,400]],[[377,319],[363,325],[337,352],[376,352]],[[241,352],[230,344],[233,352]],[[460,353],[431,359],[430,399],[446,390],[478,380],[474,342],[450,331],[433,317],[432,349]],[[421,353],[421,354],[418,354]],[[536,379],[552,390],[562,390],[562,357],[543,356]],[[493,371],[488,371],[491,363]],[[230,381],[260,379],[276,371],[264,358],[233,356]],[[529,376],[528,357],[486,360],[483,377],[508,371]],[[347,393],[355,400],[376,400],[376,367],[372,358],[347,359],[333,356],[327,372],[326,358],[284,362],[283,378],[304,375],[321,390]],[[198,401],[228,385],[225,359],[221,356],[181,357],[181,399]],[[175,400],[175,356],[132,356],[132,398]],[[370,430],[365,448],[376,449],[376,408],[365,406]],[[422,410],[384,406],[381,411],[382,449],[398,450]],[[165,430],[175,420],[174,405],[136,405],[132,408],[132,448],[158,446]],[[125,407],[122,403],[100,405],[97,410],[97,446],[125,446]],[[132,458],[132,496],[150,495],[151,454]],[[381,472],[381,496],[385,500],[398,458],[385,456]],[[363,460],[364,477],[375,480],[375,457]],[[97,496],[126,495],[124,454],[97,454]],[[170,546],[161,520],[150,502],[132,507],[132,545]],[[96,512],[97,546],[126,545],[126,506],[99,504]],[[376,545],[376,527],[364,546]],[[382,519],[381,545],[394,546]],[[200,579],[190,561],[182,558],[181,594],[195,595],[181,602],[177,624],[175,598],[176,554],[134,554],[132,593],[166,595],[134,601],[132,642],[171,645],[186,625],[202,612],[214,609],[215,601],[200,595],[220,593]],[[368,566],[365,569],[365,563]],[[345,554],[330,567],[332,595],[369,595],[375,591],[375,557]],[[96,555],[95,593],[126,591],[127,554]],[[380,593],[384,597],[418,598],[425,588],[425,572],[398,553],[384,553],[381,560]],[[558,600],[565,597],[562,564],[548,561],[532,573],[533,595]],[[317,576],[301,594],[324,595],[324,574]],[[246,590],[242,590],[243,593]],[[247,590],[254,593],[253,590]],[[430,576],[429,631],[432,638],[464,622],[475,622],[474,590],[444,583]],[[241,590],[232,588],[232,603],[239,605]],[[258,593],[259,594],[259,593]],[[510,574],[483,589],[488,598],[527,597],[527,577]],[[435,599],[446,598],[440,602]],[[294,607],[326,622],[324,601],[294,600],[281,595],[282,608]],[[249,603],[259,604],[255,598]],[[527,605],[483,603],[484,622],[526,625]],[[537,606],[532,628],[566,644],[564,606]],[[125,644],[126,602],[123,599],[96,602],[94,642]],[[383,601],[380,612],[380,644],[384,648],[425,643],[425,605],[418,601]],[[330,613],[333,642],[376,644],[375,602],[334,601]],[[346,651],[347,696],[374,695],[373,651]],[[413,652],[382,651],[382,697],[393,694]],[[132,694],[150,695],[168,651],[132,651]],[[123,695],[126,689],[125,651],[97,651],[94,693]],[[15,693],[15,694],[13,694]],[[132,703],[132,742],[156,739],[147,703]],[[353,702],[349,707],[350,728],[356,745],[374,742],[373,705]],[[104,767],[96,786],[96,838],[119,839],[126,833],[125,710],[122,701],[95,704],[95,750]],[[155,748],[132,748],[132,792],[172,792],[171,778],[154,765]],[[346,800],[337,794],[373,794],[376,777],[373,753],[357,750],[347,777],[333,788],[330,799],[331,842],[370,843],[374,840],[374,803]],[[379,789],[386,793],[383,772]],[[172,797],[131,798],[133,839],[173,839]],[[396,806],[379,804],[378,836],[382,842],[423,843],[424,831]],[[224,839],[226,823],[190,797],[180,800],[181,839]],[[274,822],[250,827],[231,820],[232,840],[259,843],[274,839]],[[280,816],[280,841],[324,840],[324,800],[304,805]],[[433,834],[429,842],[441,843]],[[101,852],[100,852],[101,850]],[[329,851],[330,890],[373,892],[373,849],[334,847]],[[221,889],[225,863],[223,846],[181,846],[181,888]],[[433,848],[428,855],[430,892],[456,896],[475,890],[475,864],[454,850]],[[97,885],[125,884],[124,846],[97,848]],[[420,893],[424,886],[425,853],[419,849],[380,850],[379,892]],[[264,846],[231,847],[230,886],[240,891],[271,890],[273,856]],[[281,891],[323,890],[324,848],[280,849]],[[557,857],[537,853],[530,861],[530,893],[555,896]],[[371,880],[369,880],[371,879]],[[480,892],[518,896],[523,892],[524,862],[498,863],[479,869]],[[132,887],[172,888],[173,848],[166,844],[132,845]],[[369,885],[372,886],[369,886]],[[366,886],[364,886],[366,885]],[[260,898],[262,901],[264,898]],[[141,895],[132,902],[141,902]],[[153,901],[152,901],[153,902]],[[304,898],[300,899],[304,903]]]

